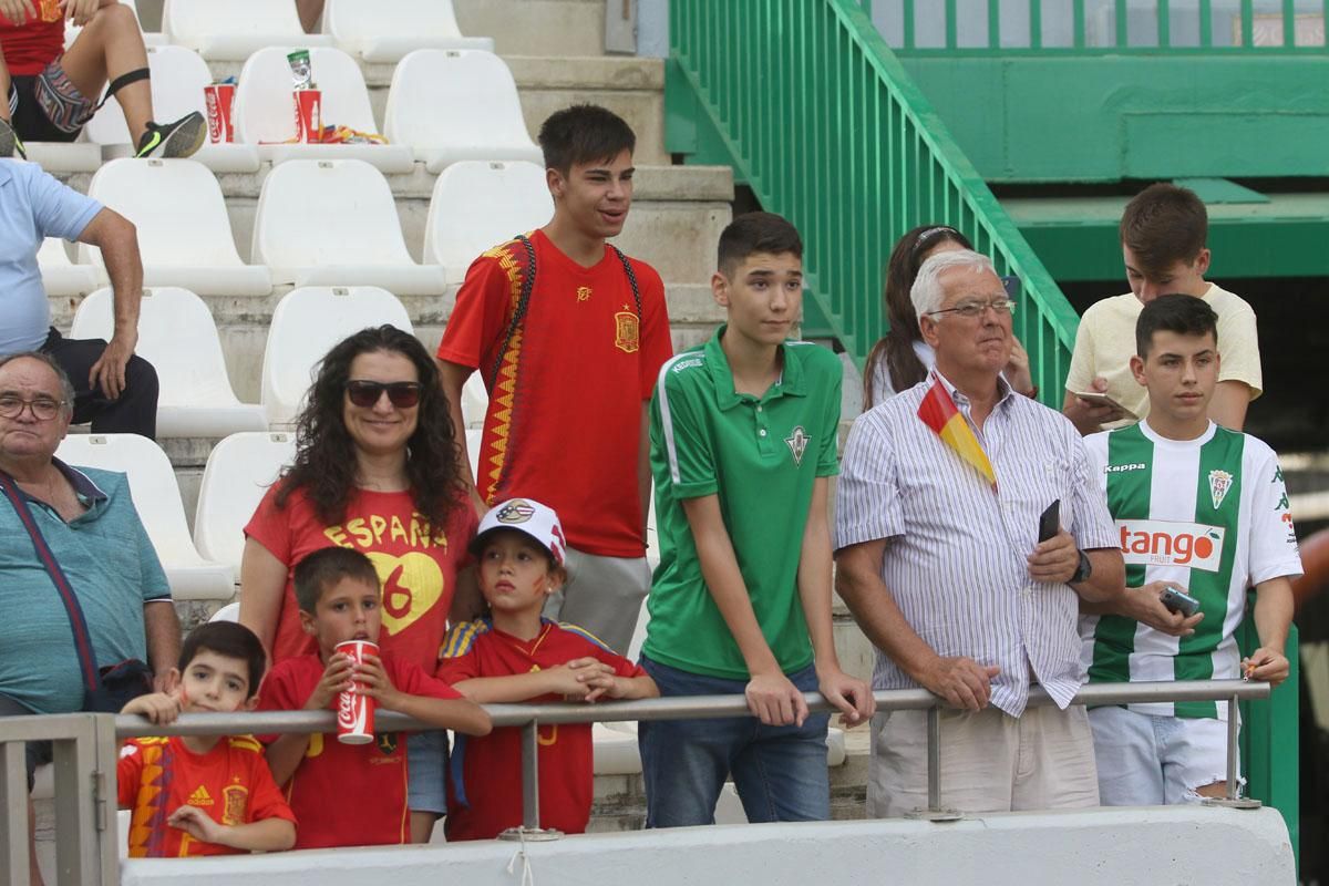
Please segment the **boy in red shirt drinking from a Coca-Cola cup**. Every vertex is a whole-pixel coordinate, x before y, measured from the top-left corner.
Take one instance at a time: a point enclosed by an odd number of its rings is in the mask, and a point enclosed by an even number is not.
[[[300,624],[319,646],[316,655],[286,659],[272,668],[259,708],[326,711],[359,685],[380,711],[399,711],[440,729],[489,732],[489,715],[409,659],[391,652],[363,664],[336,652],[344,640],[377,642],[380,586],[373,562],[360,551],[326,547],[295,567]],[[266,736],[267,760],[286,785],[300,820],[296,849],[372,846],[411,840],[404,736],[379,732],[371,744],[342,744],[334,736]]]

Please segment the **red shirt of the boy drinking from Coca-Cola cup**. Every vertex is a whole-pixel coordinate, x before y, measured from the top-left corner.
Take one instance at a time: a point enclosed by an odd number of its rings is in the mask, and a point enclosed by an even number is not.
[[[388,679],[407,695],[460,699],[451,685],[425,673],[413,662],[383,655]],[[259,711],[299,711],[323,679],[318,655],[287,659],[266,680]],[[276,736],[262,736],[266,744]],[[342,744],[336,735],[315,733],[286,784],[286,798],[299,817],[296,849],[383,846],[411,841],[407,809],[407,741],[380,732],[369,744]]]

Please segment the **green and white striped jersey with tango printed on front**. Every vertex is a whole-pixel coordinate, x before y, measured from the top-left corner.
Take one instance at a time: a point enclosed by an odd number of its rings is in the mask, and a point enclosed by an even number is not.
[[[1171,580],[1200,600],[1187,638],[1120,615],[1080,616],[1090,683],[1224,680],[1240,676],[1233,634],[1247,588],[1300,575],[1301,557],[1277,456],[1260,440],[1219,428],[1166,440],[1147,422],[1084,438],[1120,533],[1126,584]],[[1159,716],[1225,717],[1213,701],[1132,704]]]

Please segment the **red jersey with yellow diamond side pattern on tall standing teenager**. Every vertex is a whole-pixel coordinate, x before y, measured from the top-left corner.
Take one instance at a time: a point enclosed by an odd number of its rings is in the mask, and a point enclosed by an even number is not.
[[[470,264],[439,344],[439,359],[478,368],[489,389],[476,486],[490,505],[513,495],[558,511],[567,543],[602,557],[642,557],[637,453],[642,401],[672,353],[664,284],[629,259],[642,298],[611,248],[594,267],[563,255],[542,231],[536,288],[521,332],[493,384],[518,302],[526,251],[512,240]]]

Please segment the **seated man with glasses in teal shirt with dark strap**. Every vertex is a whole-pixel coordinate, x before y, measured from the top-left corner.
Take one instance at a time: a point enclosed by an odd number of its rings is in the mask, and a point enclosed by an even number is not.
[[[179,656],[170,587],[125,476],[54,457],[73,397],[51,356],[0,357],[0,717],[85,709],[89,665],[138,659],[161,685]],[[29,789],[49,758],[49,744],[28,747]]]

